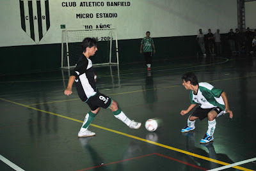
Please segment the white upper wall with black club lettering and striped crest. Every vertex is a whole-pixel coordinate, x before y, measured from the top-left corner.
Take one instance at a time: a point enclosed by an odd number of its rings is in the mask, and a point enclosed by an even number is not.
[[[118,40],[237,27],[236,0],[3,0],[0,47],[61,43],[62,29],[116,28]]]

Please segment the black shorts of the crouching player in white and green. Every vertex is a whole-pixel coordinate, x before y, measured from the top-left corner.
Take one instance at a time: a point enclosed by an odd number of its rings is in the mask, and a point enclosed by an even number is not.
[[[205,119],[205,117],[207,117],[208,113],[211,112],[212,110],[217,112],[217,114],[218,114],[217,117],[219,117],[220,115],[225,114],[225,111],[223,111],[219,107],[214,107],[214,108],[197,107],[196,110],[192,113],[192,116],[199,117],[199,119],[202,121],[203,119]]]

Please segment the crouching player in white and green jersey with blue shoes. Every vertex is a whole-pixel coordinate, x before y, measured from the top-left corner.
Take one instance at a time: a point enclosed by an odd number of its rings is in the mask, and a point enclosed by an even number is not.
[[[197,104],[200,106],[195,109],[195,111],[189,115],[188,124],[181,130],[182,133],[195,129],[196,119],[208,119],[208,130],[205,133],[204,138],[200,143],[205,144],[211,142],[213,138],[213,133],[216,128],[216,117],[229,113],[229,117],[232,119],[233,113],[228,107],[227,95],[221,89],[213,87],[207,82],[198,83],[195,73],[188,72],[182,75],[183,86],[185,89],[190,90],[189,98],[191,105],[187,110],[182,110],[181,115],[188,114]]]

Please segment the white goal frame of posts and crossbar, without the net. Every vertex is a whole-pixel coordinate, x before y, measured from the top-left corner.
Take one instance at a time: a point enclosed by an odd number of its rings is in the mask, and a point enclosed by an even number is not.
[[[68,31],[97,31],[97,30],[111,30],[111,39],[110,45],[109,45],[109,63],[101,63],[101,64],[93,64],[93,66],[100,66],[100,65],[110,65],[110,64],[116,64],[119,65],[119,57],[118,57],[118,40],[117,40],[117,30],[116,28],[111,28],[111,29],[63,29],[61,30],[61,68],[62,69],[70,69],[70,68],[75,68],[76,66],[70,66],[69,63],[69,54],[68,54],[68,37],[67,37],[67,32]],[[112,54],[112,41],[113,41],[113,31],[115,31],[115,43],[116,43],[116,63],[111,63],[111,54]],[[63,34],[65,34],[65,40],[63,37]],[[67,51],[67,66],[63,66],[63,53],[64,53],[64,43],[66,43],[66,51]]]

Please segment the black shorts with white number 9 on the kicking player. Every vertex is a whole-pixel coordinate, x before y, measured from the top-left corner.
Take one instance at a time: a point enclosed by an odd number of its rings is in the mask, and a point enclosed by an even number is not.
[[[104,94],[97,93],[90,97],[86,103],[91,108],[91,110],[94,111],[99,107],[109,108],[112,104],[112,99]]]

